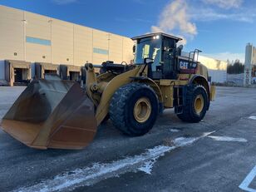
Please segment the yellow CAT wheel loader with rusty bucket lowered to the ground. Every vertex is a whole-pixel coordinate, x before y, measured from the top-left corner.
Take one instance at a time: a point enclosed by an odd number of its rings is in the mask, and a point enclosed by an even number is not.
[[[96,76],[86,64],[86,86],[57,79],[33,80],[2,119],[2,129],[32,148],[81,149],[110,118],[126,135],[147,133],[159,114],[175,108],[182,121],[204,118],[214,100],[199,50],[181,56],[179,37],[152,33],[132,38],[135,64],[105,63]]]

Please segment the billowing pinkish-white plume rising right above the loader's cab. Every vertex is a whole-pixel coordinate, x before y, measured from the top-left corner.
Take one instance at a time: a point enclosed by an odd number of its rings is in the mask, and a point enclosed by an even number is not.
[[[160,13],[157,25],[151,27],[151,32],[178,32],[180,36],[193,38],[197,34],[197,28],[190,21],[188,10],[185,0],[170,2]]]

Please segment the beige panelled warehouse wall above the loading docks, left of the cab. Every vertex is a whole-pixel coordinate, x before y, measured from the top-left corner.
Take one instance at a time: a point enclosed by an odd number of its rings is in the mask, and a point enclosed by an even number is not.
[[[83,66],[130,63],[133,41],[52,17],[0,6],[0,60]]]

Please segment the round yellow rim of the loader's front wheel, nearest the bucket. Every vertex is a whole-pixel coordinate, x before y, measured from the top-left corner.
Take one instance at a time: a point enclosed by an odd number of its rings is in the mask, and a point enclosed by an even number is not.
[[[142,97],[138,101],[136,101],[133,109],[133,115],[136,121],[143,123],[150,118],[150,114],[151,104],[148,98]]]

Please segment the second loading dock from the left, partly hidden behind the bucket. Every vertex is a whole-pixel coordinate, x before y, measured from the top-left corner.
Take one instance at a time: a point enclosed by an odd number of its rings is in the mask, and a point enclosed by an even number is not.
[[[48,62],[35,62],[35,77],[44,79],[45,74],[59,74],[59,66]]]

